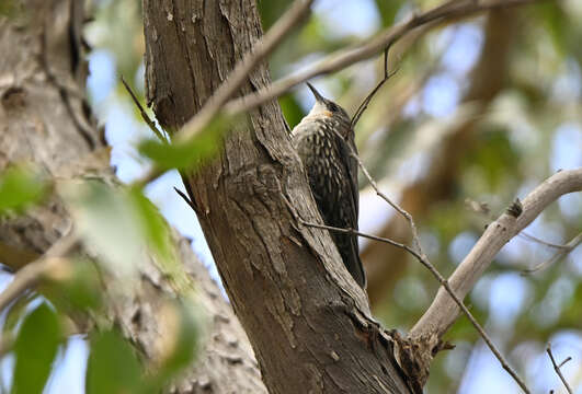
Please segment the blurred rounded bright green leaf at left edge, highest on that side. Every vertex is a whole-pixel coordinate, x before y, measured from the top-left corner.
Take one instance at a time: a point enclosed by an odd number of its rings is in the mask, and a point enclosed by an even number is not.
[[[32,167],[14,166],[0,176],[0,215],[39,201],[47,189],[46,179]]]

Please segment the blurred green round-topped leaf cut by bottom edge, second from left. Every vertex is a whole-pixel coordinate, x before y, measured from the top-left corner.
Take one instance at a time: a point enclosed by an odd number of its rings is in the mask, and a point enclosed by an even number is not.
[[[92,338],[85,375],[88,394],[141,393],[140,382],[141,366],[117,332],[100,333]]]

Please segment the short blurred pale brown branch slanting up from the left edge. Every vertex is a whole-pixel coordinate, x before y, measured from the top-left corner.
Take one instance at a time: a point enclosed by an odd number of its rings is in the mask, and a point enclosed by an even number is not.
[[[0,311],[3,311],[24,291],[35,287],[56,264],[60,264],[65,259],[64,257],[78,242],[78,236],[75,233],[69,233],[50,246],[41,258],[20,269],[10,285],[0,293]]]

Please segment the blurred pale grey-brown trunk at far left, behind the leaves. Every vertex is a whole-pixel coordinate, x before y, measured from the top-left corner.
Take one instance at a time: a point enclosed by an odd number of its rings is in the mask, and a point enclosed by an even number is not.
[[[52,177],[98,176],[115,183],[109,149],[84,101],[82,1],[22,0],[14,16],[0,16],[0,172],[33,162]],[[107,181],[109,179],[109,181]],[[26,215],[0,221],[0,262],[13,269],[43,254],[70,228],[57,197]],[[175,393],[266,392],[244,332],[190,243],[180,257],[209,316],[208,338]],[[152,259],[139,282],[110,298],[107,321],[117,322],[146,362],[155,362],[168,327],[160,305],[176,294]],[[78,317],[78,316],[77,316]],[[76,321],[85,328],[91,322]]]

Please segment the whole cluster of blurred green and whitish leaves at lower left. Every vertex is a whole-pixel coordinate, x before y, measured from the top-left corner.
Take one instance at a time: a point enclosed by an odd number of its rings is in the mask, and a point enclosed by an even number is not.
[[[2,202],[11,211],[20,208],[26,213],[25,207],[38,201],[39,190],[48,188],[36,172],[24,165],[9,169],[1,178],[0,196],[8,196]],[[96,257],[66,256],[67,264],[64,260],[48,271],[37,292],[24,293],[10,305],[2,323],[2,351],[15,357],[13,369],[7,369],[11,392],[46,390],[59,362],[58,351],[66,350],[61,343],[72,326],[61,322],[78,318],[88,324],[88,318],[94,318],[100,329],[89,333],[87,392],[159,393],[194,360],[199,347],[201,316],[170,227],[138,187],[113,187],[84,179],[64,181],[55,190],[65,198],[76,230]],[[100,317],[106,313],[103,279],[112,276],[117,280],[117,285],[107,280],[107,297],[133,287],[144,265],[145,250],[155,256],[166,280],[180,296],[180,301],[168,300],[160,312],[169,338],[155,368],[146,366],[144,355],[116,329],[107,328],[111,322]]]

